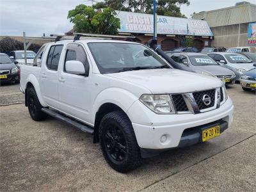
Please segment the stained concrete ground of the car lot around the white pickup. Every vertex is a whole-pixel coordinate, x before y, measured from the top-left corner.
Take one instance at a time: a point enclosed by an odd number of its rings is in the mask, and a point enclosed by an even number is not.
[[[92,136],[47,118],[31,120],[18,84],[1,86],[0,191],[253,191],[256,95],[227,89],[234,123],[220,137],[146,159],[137,170],[111,169]]]

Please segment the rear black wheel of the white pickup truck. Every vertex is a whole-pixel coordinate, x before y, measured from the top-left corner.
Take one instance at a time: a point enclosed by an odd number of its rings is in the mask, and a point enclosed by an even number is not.
[[[28,88],[28,111],[31,118],[35,121],[44,120],[47,114],[41,111],[43,106],[41,106],[36,91],[34,88]]]

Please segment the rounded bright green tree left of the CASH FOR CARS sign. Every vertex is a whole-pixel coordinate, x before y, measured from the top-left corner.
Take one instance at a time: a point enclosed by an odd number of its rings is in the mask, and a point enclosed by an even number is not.
[[[99,4],[95,6],[99,7]],[[103,8],[102,12],[95,12],[92,7],[79,4],[68,12],[68,19],[74,23],[76,32],[115,35],[120,28],[120,19],[115,15],[116,12],[109,7]]]

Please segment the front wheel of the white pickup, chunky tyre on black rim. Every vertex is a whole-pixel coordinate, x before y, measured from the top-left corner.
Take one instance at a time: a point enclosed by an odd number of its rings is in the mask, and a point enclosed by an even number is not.
[[[113,111],[102,118],[99,138],[102,154],[114,170],[126,173],[140,166],[140,147],[123,111]]]

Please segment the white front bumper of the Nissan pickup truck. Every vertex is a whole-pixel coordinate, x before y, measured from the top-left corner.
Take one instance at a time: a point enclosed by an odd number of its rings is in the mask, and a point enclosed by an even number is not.
[[[131,118],[138,145],[141,148],[158,150],[175,148],[179,145],[184,147],[187,144],[194,144],[195,141],[198,142],[198,134],[195,136],[196,139],[191,142],[187,142],[186,137],[182,138],[185,130],[189,132],[195,127],[212,125],[216,121],[225,121],[227,127],[229,127],[232,124],[234,111],[232,100],[229,97],[220,108],[198,114],[157,115],[142,105],[140,101],[134,102],[127,111]],[[163,135],[167,137],[164,142],[161,141]],[[184,144],[184,142],[187,144]]]

